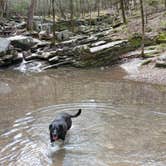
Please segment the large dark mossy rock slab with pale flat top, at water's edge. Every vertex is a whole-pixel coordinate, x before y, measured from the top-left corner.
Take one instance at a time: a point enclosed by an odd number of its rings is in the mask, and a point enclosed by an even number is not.
[[[115,64],[120,56],[133,50],[128,40],[113,41],[103,43],[102,45],[89,47],[77,47],[74,49],[76,58],[76,67],[98,67]]]

